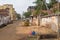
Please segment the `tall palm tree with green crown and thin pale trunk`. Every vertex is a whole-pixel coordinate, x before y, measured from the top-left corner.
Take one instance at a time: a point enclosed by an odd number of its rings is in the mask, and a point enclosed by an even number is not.
[[[35,16],[38,15],[38,26],[40,25],[40,14],[41,14],[41,10],[45,8],[45,5],[44,5],[44,2],[43,0],[36,0],[36,13],[35,13]]]

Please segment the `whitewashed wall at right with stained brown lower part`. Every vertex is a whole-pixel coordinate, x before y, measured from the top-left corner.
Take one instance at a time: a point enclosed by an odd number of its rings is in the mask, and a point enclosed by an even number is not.
[[[58,17],[52,16],[47,18],[42,18],[41,25],[44,25],[47,28],[51,28],[53,31],[58,32]]]

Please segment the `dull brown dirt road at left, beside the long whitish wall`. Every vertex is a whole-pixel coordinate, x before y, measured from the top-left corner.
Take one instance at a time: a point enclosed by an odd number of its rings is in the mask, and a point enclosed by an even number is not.
[[[0,40],[17,40],[16,27],[19,26],[19,21],[9,24],[0,29]]]

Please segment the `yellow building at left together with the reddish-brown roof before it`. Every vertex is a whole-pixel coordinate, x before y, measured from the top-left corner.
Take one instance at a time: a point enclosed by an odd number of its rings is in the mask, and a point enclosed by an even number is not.
[[[11,20],[16,20],[16,11],[12,4],[4,4],[0,6],[0,14],[9,15]]]

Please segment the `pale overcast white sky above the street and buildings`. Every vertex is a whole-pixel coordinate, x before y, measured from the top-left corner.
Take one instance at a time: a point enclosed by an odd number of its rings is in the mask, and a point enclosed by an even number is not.
[[[23,11],[26,11],[28,6],[34,6],[33,4],[35,0],[0,0],[0,5],[3,4],[13,4],[17,13],[22,14]],[[48,2],[48,0],[47,0]]]

